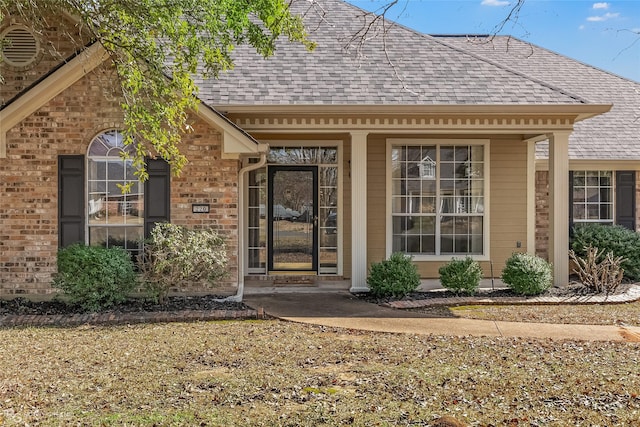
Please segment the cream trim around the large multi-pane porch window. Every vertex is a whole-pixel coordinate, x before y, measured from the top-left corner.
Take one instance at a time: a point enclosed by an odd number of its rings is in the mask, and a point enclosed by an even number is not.
[[[489,139],[447,139],[447,138],[387,138],[387,147],[386,147],[386,254],[389,257],[393,251],[393,212],[392,212],[392,168],[391,168],[391,149],[394,145],[436,145],[438,147],[442,145],[482,145],[484,146],[484,215],[483,215],[483,224],[482,224],[482,234],[483,234],[483,248],[484,253],[479,255],[473,254],[448,254],[448,255],[413,255],[414,261],[450,261],[451,258],[457,257],[466,257],[476,261],[490,261],[491,259],[491,246],[490,246],[490,238],[489,224],[491,222],[490,218],[490,170],[491,163],[489,158]],[[438,167],[436,165],[436,167]],[[439,237],[439,235],[437,236]]]

